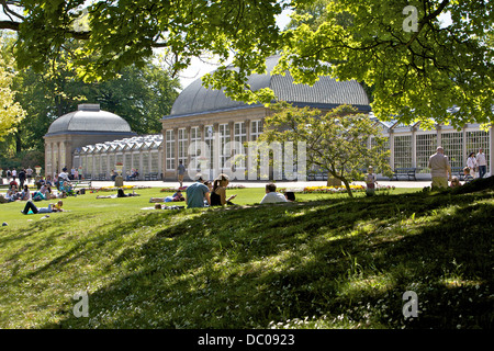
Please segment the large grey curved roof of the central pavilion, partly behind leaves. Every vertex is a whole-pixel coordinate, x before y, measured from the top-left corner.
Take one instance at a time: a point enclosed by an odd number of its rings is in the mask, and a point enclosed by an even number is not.
[[[290,102],[297,106],[334,109],[340,104],[351,104],[362,111],[371,110],[369,98],[357,81],[337,81],[330,77],[322,76],[312,87],[307,84],[294,84],[293,78],[289,72],[284,76],[271,76],[270,72],[279,59],[280,56],[278,55],[269,57],[266,61],[267,73],[251,75],[249,77],[248,84],[250,84],[252,90],[271,88],[279,100]],[[251,106],[226,98],[223,90],[204,88],[201,78],[199,78],[183,89],[175,101],[170,115],[165,118]]]

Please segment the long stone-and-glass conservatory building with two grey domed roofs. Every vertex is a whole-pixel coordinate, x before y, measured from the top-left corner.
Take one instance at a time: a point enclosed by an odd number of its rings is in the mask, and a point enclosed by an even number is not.
[[[312,87],[293,84],[289,73],[269,73],[277,63],[277,56],[268,58],[268,73],[249,78],[252,89],[271,88],[282,101],[322,111],[351,104],[373,117],[368,97],[358,82],[321,77]],[[91,109],[92,112],[89,111]],[[209,179],[214,179],[220,172],[228,173],[225,165],[234,154],[248,157],[247,148],[233,150],[225,146],[229,141],[244,145],[257,140],[263,129],[263,118],[271,113],[263,105],[244,104],[226,98],[222,91],[205,89],[201,79],[179,94],[170,115],[161,120],[161,134],[137,136],[124,120],[100,111],[99,105],[81,105],[79,110],[86,112],[56,120],[45,136],[47,174],[59,171],[65,165],[69,169],[79,168],[86,179],[109,180],[116,163],[122,163],[124,174],[137,169],[141,180],[175,181],[180,161],[192,170],[191,174],[195,174],[201,160],[190,150],[194,151],[194,145],[201,143],[206,146],[210,160],[214,159],[213,155],[216,156],[214,162],[209,162],[205,172]],[[445,148],[451,166],[456,168],[464,167],[468,155],[483,148],[487,173],[492,174],[492,127],[485,132],[480,129],[479,124],[468,124],[457,131],[451,126],[437,125],[435,129],[427,131],[420,128],[420,124],[403,125],[378,120],[375,123],[388,137],[392,169],[416,168],[417,179],[430,179],[427,163],[437,146]],[[202,150],[199,154],[203,155]],[[247,170],[245,163],[237,167]]]

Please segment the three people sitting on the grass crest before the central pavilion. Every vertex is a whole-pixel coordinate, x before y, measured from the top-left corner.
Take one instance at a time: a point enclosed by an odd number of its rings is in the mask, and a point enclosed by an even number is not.
[[[220,174],[214,182],[206,181],[201,174],[195,177],[195,182],[187,188],[186,202],[188,208],[205,207],[205,206],[225,206],[234,205],[232,200],[237,195],[226,196],[226,188],[229,179],[226,174]],[[266,194],[261,199],[260,204],[279,203],[294,201],[293,192],[285,194],[277,192],[277,185],[269,183],[266,185]]]

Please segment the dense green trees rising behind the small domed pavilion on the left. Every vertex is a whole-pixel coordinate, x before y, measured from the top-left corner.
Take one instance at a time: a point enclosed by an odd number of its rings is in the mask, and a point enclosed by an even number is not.
[[[14,37],[3,33],[0,38],[2,69],[12,72],[10,89],[24,112],[24,117],[14,121],[13,128],[1,136],[3,168],[43,165],[43,136],[56,118],[76,111],[78,104],[99,103],[101,110],[127,121],[137,134],[155,134],[160,133],[160,120],[170,112],[179,93],[178,80],[170,78],[156,57],[142,67],[122,67],[113,79],[85,82],[77,76],[78,67],[72,64],[69,50],[60,52],[56,60],[46,61],[43,71],[18,70]]]

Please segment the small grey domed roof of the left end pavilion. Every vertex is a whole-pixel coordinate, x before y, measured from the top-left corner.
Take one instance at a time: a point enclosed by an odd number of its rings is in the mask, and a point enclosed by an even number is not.
[[[125,134],[132,133],[132,129],[124,118],[100,110],[99,104],[80,104],[78,111],[67,113],[55,120],[46,136],[71,133]]]

